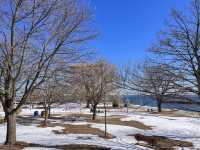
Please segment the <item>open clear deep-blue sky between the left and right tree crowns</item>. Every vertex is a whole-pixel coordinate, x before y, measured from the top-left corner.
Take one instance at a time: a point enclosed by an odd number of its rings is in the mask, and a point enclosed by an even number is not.
[[[172,8],[188,9],[190,0],[91,0],[100,36],[99,55],[121,65],[140,61],[164,27]]]

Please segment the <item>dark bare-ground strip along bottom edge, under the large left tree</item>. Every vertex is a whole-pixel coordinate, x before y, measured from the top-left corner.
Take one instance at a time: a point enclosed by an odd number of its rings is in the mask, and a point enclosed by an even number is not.
[[[71,145],[55,145],[45,146],[40,144],[17,142],[14,146],[0,145],[0,150],[22,150],[25,147],[42,147],[42,148],[57,148],[63,150],[110,150],[110,148],[96,146],[96,145],[84,145],[84,144],[71,144]]]

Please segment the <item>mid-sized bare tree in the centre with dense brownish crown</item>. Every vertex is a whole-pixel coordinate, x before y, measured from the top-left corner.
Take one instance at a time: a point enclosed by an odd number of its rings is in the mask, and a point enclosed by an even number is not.
[[[100,60],[94,64],[84,63],[73,66],[76,70],[76,85],[83,91],[84,99],[91,104],[92,119],[96,118],[97,105],[103,102],[105,96],[114,90],[116,69],[106,61]]]

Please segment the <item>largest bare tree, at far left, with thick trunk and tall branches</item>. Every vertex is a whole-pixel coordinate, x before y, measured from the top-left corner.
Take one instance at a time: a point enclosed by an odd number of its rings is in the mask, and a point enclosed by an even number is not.
[[[45,81],[54,59],[78,55],[80,44],[96,34],[88,28],[90,12],[76,0],[1,0],[0,16],[0,101],[5,143],[12,145],[16,112]]]

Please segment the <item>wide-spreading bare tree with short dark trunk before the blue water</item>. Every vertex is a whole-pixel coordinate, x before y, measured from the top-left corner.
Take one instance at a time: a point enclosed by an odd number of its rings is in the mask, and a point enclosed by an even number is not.
[[[178,80],[166,65],[145,63],[137,68],[127,67],[121,73],[121,87],[133,92],[153,97],[157,102],[158,112],[162,111],[162,103],[179,98],[183,88],[177,85]]]

